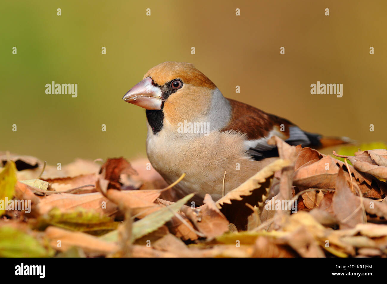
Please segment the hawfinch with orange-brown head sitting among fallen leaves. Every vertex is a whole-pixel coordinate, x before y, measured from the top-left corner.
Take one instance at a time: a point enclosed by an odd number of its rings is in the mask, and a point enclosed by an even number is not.
[[[281,117],[223,97],[194,65],[161,63],[122,98],[146,109],[147,156],[179,195],[206,193],[214,200],[234,189],[278,156],[267,144],[276,135],[290,145],[320,148],[342,144],[305,132]],[[202,200],[202,199],[201,199]]]

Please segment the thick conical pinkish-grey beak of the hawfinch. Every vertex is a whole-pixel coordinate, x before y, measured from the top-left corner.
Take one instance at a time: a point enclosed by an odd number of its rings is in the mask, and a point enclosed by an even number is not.
[[[153,85],[152,78],[147,77],[128,90],[122,99],[144,109],[161,109],[162,95],[160,88]]]

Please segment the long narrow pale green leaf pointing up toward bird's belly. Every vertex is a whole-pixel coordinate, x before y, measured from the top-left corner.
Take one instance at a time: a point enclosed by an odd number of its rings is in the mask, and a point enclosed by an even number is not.
[[[163,226],[167,221],[175,216],[175,213],[179,211],[180,208],[193,196],[193,193],[188,194],[176,203],[163,207],[158,211],[145,216],[139,221],[134,222],[132,226],[132,241],[152,233]],[[118,230],[111,231],[110,233],[101,236],[101,239],[105,241],[118,241]]]

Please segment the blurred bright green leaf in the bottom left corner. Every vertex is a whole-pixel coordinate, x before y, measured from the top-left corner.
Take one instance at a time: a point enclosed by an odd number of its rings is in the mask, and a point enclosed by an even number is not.
[[[49,257],[46,249],[33,236],[10,226],[0,227],[0,257]]]

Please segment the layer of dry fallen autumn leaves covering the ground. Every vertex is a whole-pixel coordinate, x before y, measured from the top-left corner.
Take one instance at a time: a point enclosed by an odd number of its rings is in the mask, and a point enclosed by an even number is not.
[[[269,143],[278,160],[200,207],[175,197],[184,174],[168,186],[143,158],[59,169],[0,153],[0,257],[387,256],[387,150]]]

